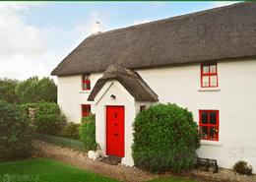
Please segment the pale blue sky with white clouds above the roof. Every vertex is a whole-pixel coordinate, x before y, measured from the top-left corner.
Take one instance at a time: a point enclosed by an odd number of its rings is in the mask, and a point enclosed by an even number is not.
[[[87,36],[234,2],[0,2],[0,78],[50,72]]]

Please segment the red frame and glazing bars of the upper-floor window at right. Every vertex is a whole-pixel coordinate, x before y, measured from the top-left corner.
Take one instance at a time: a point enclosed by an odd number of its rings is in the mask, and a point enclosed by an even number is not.
[[[213,65],[215,66],[216,70],[215,70],[214,73],[211,73],[210,67],[213,66]],[[208,70],[209,70],[208,73],[204,73],[204,67],[208,67]],[[212,76],[217,77],[216,86],[211,85],[211,77]],[[209,82],[208,86],[204,86],[203,77],[208,77],[208,82]],[[202,63],[201,64],[201,88],[218,88],[218,87],[219,87],[219,79],[218,79],[217,63]]]

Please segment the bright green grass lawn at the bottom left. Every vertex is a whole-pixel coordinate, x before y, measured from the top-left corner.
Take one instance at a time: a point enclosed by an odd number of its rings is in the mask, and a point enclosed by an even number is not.
[[[0,163],[0,181],[112,182],[116,180],[55,160],[30,159]]]

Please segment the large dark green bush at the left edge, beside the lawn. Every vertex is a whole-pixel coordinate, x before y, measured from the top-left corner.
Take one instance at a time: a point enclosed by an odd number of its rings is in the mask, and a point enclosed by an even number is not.
[[[32,129],[24,112],[16,105],[0,101],[0,160],[32,154]]]

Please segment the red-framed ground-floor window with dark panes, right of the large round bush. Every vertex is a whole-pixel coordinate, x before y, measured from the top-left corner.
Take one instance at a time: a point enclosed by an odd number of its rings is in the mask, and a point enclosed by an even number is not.
[[[219,141],[219,110],[199,110],[199,128],[202,140]]]

